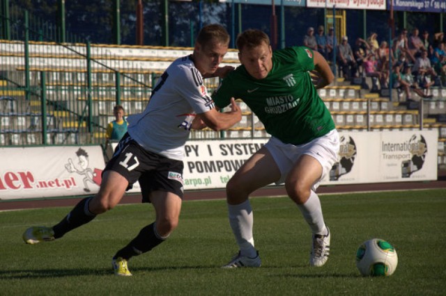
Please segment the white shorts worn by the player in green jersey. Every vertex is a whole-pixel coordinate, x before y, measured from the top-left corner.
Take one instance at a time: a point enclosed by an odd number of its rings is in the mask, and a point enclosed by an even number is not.
[[[280,170],[281,176],[276,184],[284,183],[286,176],[300,156],[307,154],[316,158],[322,165],[322,176],[312,187],[313,190],[316,190],[325,174],[328,174],[334,163],[337,162],[339,134],[336,129],[333,129],[322,137],[302,145],[284,144],[281,140],[271,137],[265,147],[270,151]]]

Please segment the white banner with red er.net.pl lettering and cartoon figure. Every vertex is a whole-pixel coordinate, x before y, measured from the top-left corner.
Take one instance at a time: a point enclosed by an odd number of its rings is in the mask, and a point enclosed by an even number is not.
[[[98,192],[100,146],[0,148],[0,200]]]

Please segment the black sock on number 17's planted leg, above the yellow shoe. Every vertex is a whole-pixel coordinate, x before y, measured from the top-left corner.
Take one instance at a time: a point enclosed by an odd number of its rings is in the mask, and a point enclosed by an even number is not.
[[[155,229],[155,222],[144,227],[139,231],[136,238],[134,238],[128,245],[116,252],[113,258],[124,258],[129,260],[132,256],[138,256],[146,253],[164,242],[166,238],[162,238]]]

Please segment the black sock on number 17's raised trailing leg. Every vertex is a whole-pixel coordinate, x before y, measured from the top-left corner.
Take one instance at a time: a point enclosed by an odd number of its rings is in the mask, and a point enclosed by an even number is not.
[[[89,211],[89,202],[92,198],[82,199],[59,224],[54,225],[54,238],[61,238],[68,231],[82,226],[96,217]]]

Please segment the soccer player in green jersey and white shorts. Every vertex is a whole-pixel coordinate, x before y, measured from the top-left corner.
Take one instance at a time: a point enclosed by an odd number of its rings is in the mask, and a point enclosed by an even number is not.
[[[268,35],[259,30],[238,35],[237,47],[242,65],[223,79],[213,100],[224,108],[232,97],[242,99],[271,138],[226,185],[229,223],[240,251],[223,267],[261,266],[248,197],[270,183],[285,183],[312,230],[309,263],[322,266],[330,253],[330,231],[316,188],[337,161],[339,135],[316,89],[334,75],[323,56],[307,47],[272,52]]]

